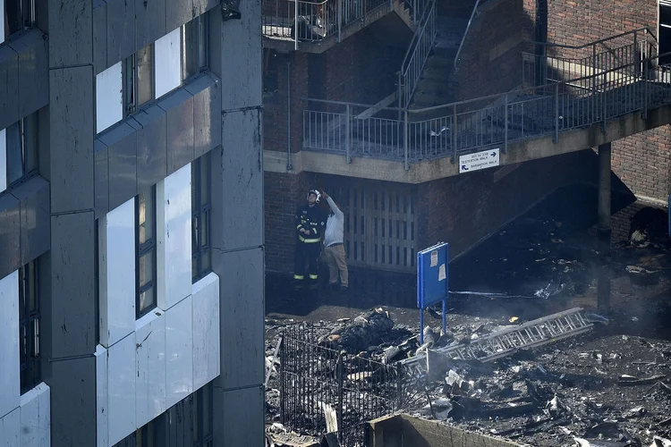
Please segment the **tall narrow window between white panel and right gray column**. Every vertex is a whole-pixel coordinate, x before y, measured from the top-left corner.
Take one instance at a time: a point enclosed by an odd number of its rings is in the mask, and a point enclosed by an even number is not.
[[[191,163],[191,274],[193,283],[212,268],[212,251],[209,241],[210,154]]]

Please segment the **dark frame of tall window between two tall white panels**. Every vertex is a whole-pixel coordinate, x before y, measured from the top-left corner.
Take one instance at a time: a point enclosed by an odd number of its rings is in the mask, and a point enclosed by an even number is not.
[[[152,232],[151,238],[140,243],[140,194],[135,196],[135,317],[136,319],[147,315],[153,309],[157,308],[157,194],[156,185],[152,186],[145,193],[149,193],[152,200],[150,213],[152,214]],[[145,213],[147,208],[145,205]],[[145,223],[147,219],[145,218]],[[140,258],[151,256],[151,280],[140,284]],[[153,289],[153,302],[150,306],[140,309],[140,295]]]

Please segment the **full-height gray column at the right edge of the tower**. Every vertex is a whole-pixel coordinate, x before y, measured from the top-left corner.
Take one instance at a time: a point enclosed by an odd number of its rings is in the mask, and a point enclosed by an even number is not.
[[[210,69],[222,80],[222,148],[212,156],[212,265],[221,284],[214,444],[227,447],[263,445],[265,417],[261,3],[240,6],[240,20],[209,13]]]

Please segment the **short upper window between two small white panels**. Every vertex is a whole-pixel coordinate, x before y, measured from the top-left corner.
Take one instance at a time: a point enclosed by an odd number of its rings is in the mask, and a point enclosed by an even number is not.
[[[154,46],[148,45],[123,61],[123,110],[134,114],[154,99]]]

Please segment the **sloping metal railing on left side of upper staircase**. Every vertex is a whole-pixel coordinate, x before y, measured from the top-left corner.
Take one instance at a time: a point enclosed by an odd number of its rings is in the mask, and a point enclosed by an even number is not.
[[[416,0],[413,0],[416,1]],[[405,52],[401,70],[398,72],[398,101],[400,107],[410,104],[412,94],[420,81],[424,64],[436,41],[436,1],[431,0],[421,14],[408,50]]]

